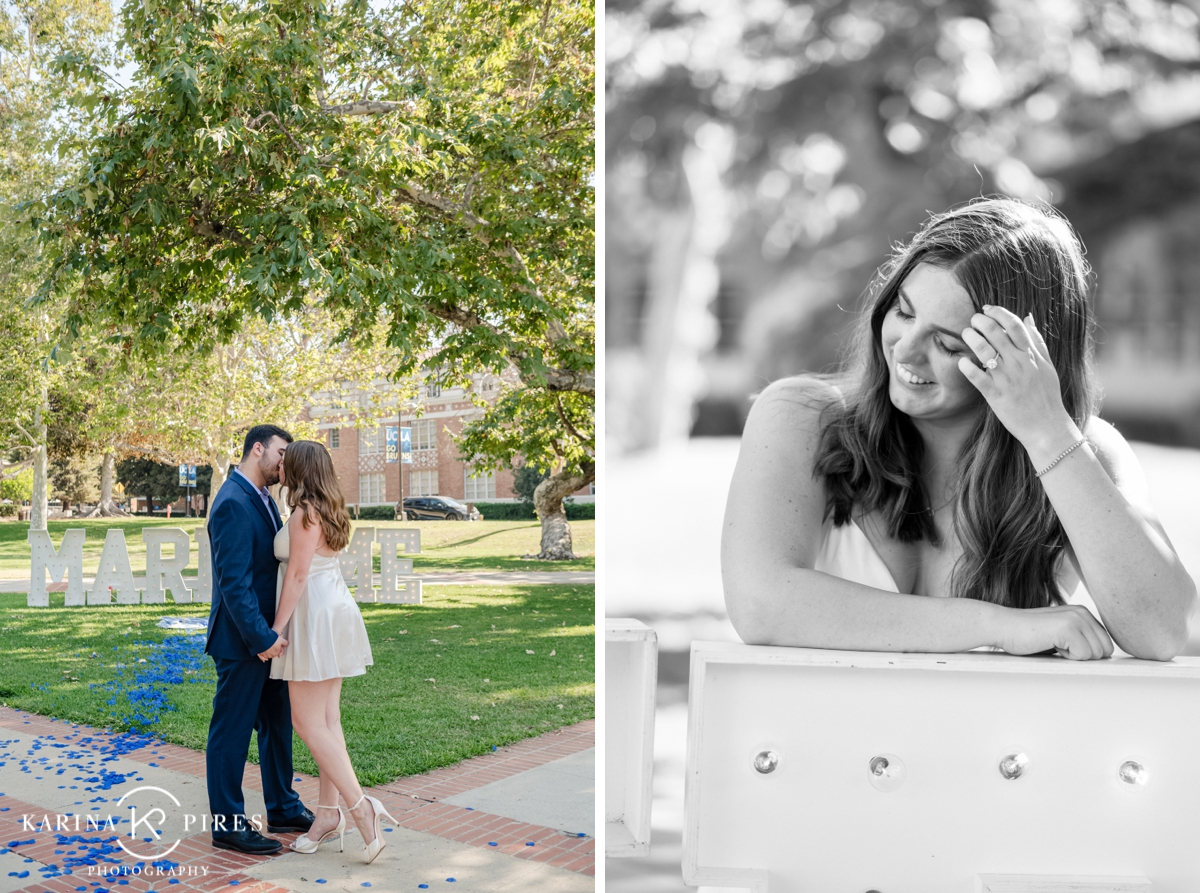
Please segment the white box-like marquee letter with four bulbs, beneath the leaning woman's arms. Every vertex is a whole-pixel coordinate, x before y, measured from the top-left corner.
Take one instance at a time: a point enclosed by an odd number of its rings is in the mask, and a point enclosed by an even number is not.
[[[695,642],[689,699],[689,885],[1200,891],[1200,659]]]

